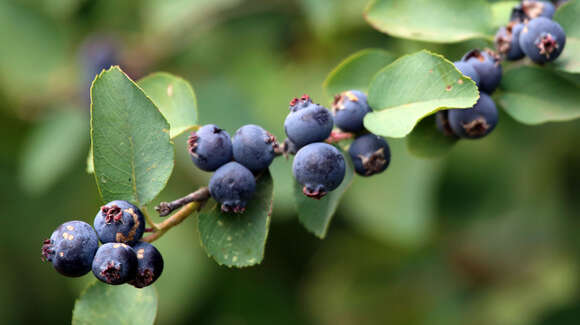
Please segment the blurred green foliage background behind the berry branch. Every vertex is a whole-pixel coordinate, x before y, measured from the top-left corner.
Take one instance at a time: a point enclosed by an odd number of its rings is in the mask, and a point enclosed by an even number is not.
[[[329,104],[322,82],[360,49],[457,60],[490,46],[390,38],[365,23],[366,2],[0,0],[0,323],[69,323],[93,279],[58,275],[40,246],[64,221],[92,223],[101,204],[85,172],[99,53],[134,79],[167,71],[190,81],[202,123],[230,133],[256,123],[283,139],[288,101],[308,93]],[[277,159],[264,262],[217,266],[188,219],[157,242],[157,322],[578,324],[580,121],[500,120],[443,159],[389,140],[390,168],[355,179],[322,241],[299,225],[291,163]],[[185,140],[156,203],[210,176],[193,168]]]

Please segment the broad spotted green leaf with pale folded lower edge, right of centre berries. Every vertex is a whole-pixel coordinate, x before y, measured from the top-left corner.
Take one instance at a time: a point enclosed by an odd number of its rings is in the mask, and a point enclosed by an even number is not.
[[[381,70],[369,88],[374,112],[365,116],[365,127],[382,136],[402,138],[423,117],[440,109],[475,104],[475,83],[445,58],[420,51],[397,59]]]

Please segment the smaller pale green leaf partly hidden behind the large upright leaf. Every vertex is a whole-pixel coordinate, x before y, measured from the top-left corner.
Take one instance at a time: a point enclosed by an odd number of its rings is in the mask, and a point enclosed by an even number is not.
[[[172,139],[196,126],[197,99],[189,82],[169,73],[157,72],[139,80],[138,85],[169,122]]]

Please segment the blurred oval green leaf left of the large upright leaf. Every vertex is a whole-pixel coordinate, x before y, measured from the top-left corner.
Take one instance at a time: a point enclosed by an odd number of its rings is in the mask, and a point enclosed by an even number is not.
[[[22,148],[22,188],[31,194],[50,189],[82,157],[89,140],[87,131],[87,115],[77,107],[39,121]]]

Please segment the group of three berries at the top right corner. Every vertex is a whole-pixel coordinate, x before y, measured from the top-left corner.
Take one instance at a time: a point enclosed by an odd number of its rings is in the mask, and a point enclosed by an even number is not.
[[[548,1],[522,1],[512,9],[509,24],[495,36],[498,52],[510,61],[524,56],[538,64],[554,61],[566,45],[562,26],[552,20],[555,11]]]

